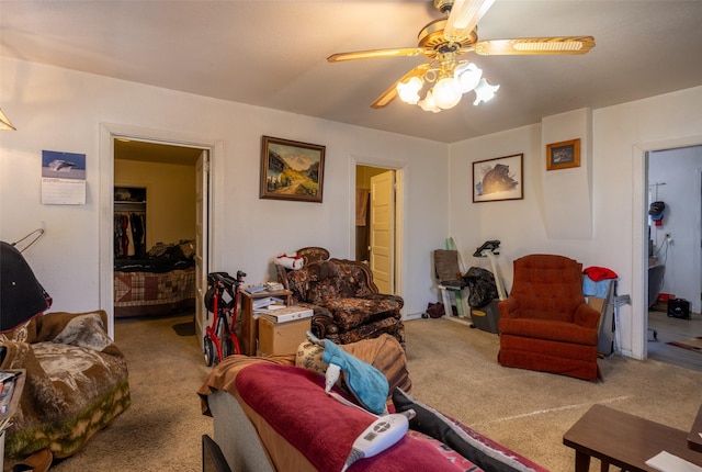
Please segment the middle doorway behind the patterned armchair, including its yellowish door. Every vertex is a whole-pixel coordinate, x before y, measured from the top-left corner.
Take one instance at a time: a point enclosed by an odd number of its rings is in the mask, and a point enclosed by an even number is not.
[[[369,265],[382,293],[399,295],[403,172],[363,165],[355,169],[355,260]]]

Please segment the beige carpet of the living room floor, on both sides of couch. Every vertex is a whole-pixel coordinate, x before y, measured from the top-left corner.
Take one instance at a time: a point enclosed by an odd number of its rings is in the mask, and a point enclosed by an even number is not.
[[[212,435],[195,391],[205,367],[194,336],[178,336],[185,317],[116,325],[129,366],[132,407],[79,453],[52,470],[199,471],[201,436]],[[554,472],[573,470],[563,434],[601,403],[689,429],[700,403],[702,372],[622,357],[600,360],[604,382],[500,367],[498,337],[454,319],[406,324],[412,394],[446,415]],[[599,470],[593,460],[591,470]]]

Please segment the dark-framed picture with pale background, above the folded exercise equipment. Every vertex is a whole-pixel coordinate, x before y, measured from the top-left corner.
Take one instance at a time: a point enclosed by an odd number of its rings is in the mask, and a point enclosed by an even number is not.
[[[473,162],[473,203],[524,198],[523,154]]]

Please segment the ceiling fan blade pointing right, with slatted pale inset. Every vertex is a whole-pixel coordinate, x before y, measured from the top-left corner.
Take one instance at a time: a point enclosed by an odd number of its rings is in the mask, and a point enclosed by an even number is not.
[[[475,52],[483,56],[587,54],[593,47],[592,36],[521,37],[479,41],[475,44]]]

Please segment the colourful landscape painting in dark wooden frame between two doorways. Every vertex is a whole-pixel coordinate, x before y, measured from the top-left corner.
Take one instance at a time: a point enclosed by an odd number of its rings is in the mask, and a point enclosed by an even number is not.
[[[321,203],[325,146],[262,136],[260,199]]]

